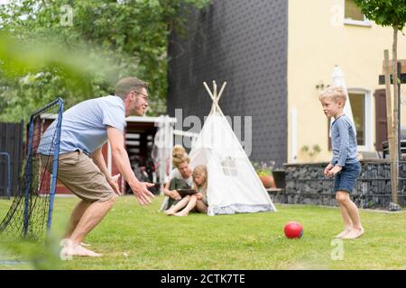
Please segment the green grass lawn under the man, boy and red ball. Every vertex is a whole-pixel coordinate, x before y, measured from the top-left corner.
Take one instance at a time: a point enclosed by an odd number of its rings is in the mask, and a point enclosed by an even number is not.
[[[405,211],[361,211],[364,236],[343,241],[343,259],[333,260],[341,244],[332,239],[343,229],[337,208],[276,205],[276,213],[168,217],[158,211],[161,200],[157,197],[142,207],[133,196],[118,199],[86,238],[103,257],[61,261],[56,258],[58,241],[45,252],[3,244],[0,269],[406,269]],[[56,199],[55,237],[61,235],[76,202],[78,198]],[[1,219],[10,204],[0,201]],[[284,237],[283,225],[289,220],[303,225],[299,240]],[[48,257],[32,262],[32,249]]]

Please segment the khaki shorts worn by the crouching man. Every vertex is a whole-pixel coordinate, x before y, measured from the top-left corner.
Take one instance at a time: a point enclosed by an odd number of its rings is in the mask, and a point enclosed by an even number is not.
[[[58,180],[80,199],[89,202],[105,202],[115,197],[106,176],[93,160],[80,150],[60,154]]]

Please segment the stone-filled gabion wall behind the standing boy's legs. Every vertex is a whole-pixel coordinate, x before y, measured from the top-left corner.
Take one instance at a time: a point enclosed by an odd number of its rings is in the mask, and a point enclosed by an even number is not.
[[[274,202],[337,206],[334,178],[323,174],[328,163],[285,164],[286,186]],[[392,202],[390,164],[386,159],[361,160],[361,175],[351,199],[360,208],[388,210]],[[406,162],[400,163],[398,200],[406,206]]]

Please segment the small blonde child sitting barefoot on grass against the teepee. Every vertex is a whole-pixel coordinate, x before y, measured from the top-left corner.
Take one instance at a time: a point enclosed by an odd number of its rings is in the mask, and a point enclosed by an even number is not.
[[[193,189],[198,193],[183,197],[180,202],[166,211],[167,215],[188,216],[192,209],[201,213],[208,212],[208,170],[206,166],[196,166],[193,169],[192,177]]]

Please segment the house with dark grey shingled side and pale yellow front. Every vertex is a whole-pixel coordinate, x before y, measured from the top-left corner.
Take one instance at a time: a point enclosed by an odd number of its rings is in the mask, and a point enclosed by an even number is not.
[[[187,36],[172,33],[169,48],[168,113],[180,128],[196,131],[184,118],[203,120],[210,110],[202,82],[227,81],[220,106],[233,125],[235,117],[250,117],[240,140],[250,145],[251,160],[277,166],[328,161],[329,125],[318,94],[331,85],[337,65],[346,78],[359,150],[382,151],[386,111],[378,79],[383,50],[392,50],[392,28],[365,19],[353,0],[213,0],[187,15]],[[398,49],[398,58],[406,59],[401,33]],[[401,94],[404,99],[405,88]],[[401,126],[405,108],[401,104]],[[320,152],[310,155],[315,145]]]

